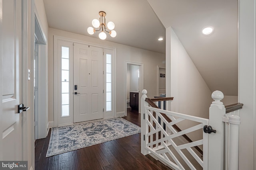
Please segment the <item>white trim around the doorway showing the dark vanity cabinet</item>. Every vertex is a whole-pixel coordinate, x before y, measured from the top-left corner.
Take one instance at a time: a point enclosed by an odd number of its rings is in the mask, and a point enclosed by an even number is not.
[[[132,62],[132,61],[126,61],[125,62],[125,71],[124,71],[124,92],[125,92],[125,95],[124,95],[124,103],[125,103],[125,107],[124,107],[124,115],[127,116],[127,92],[126,92],[126,87],[127,87],[127,65],[128,64],[132,64],[132,65],[137,65],[140,67],[140,79],[139,79],[139,113],[140,113],[140,98],[142,96],[142,90],[144,88],[144,64],[143,63],[136,63],[136,62]]]

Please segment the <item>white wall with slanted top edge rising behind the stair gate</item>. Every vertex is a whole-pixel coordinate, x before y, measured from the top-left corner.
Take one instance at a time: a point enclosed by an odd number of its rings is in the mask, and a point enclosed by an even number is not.
[[[211,91],[171,27],[166,29],[166,49],[166,96],[174,97],[171,110],[208,118]]]

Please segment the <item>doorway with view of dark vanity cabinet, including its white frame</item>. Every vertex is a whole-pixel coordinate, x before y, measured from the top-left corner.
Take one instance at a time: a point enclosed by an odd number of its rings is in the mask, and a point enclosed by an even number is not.
[[[140,113],[140,98],[143,90],[143,64],[126,62],[125,114],[127,108]]]

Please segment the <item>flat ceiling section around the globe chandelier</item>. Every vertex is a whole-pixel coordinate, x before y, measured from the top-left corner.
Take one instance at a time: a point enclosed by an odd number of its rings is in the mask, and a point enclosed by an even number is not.
[[[112,41],[159,53],[165,53],[165,28],[147,0],[44,0],[49,27],[98,38],[87,33],[99,12],[106,12],[106,22],[115,23]]]

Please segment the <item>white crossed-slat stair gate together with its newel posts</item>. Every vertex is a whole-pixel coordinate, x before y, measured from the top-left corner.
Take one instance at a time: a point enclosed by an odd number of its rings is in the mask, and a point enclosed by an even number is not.
[[[240,117],[237,111],[226,114],[225,106],[220,102],[224,98],[222,92],[212,93],[214,101],[209,109],[209,119],[149,107],[145,102],[146,94],[147,91],[143,90],[142,154],[152,154],[154,158],[175,170],[238,170]],[[177,131],[177,125],[182,131]],[[215,133],[211,133],[209,125]],[[204,133],[202,129],[208,133]],[[184,140],[185,134],[190,136],[193,142]],[[194,147],[200,147],[203,156]]]

